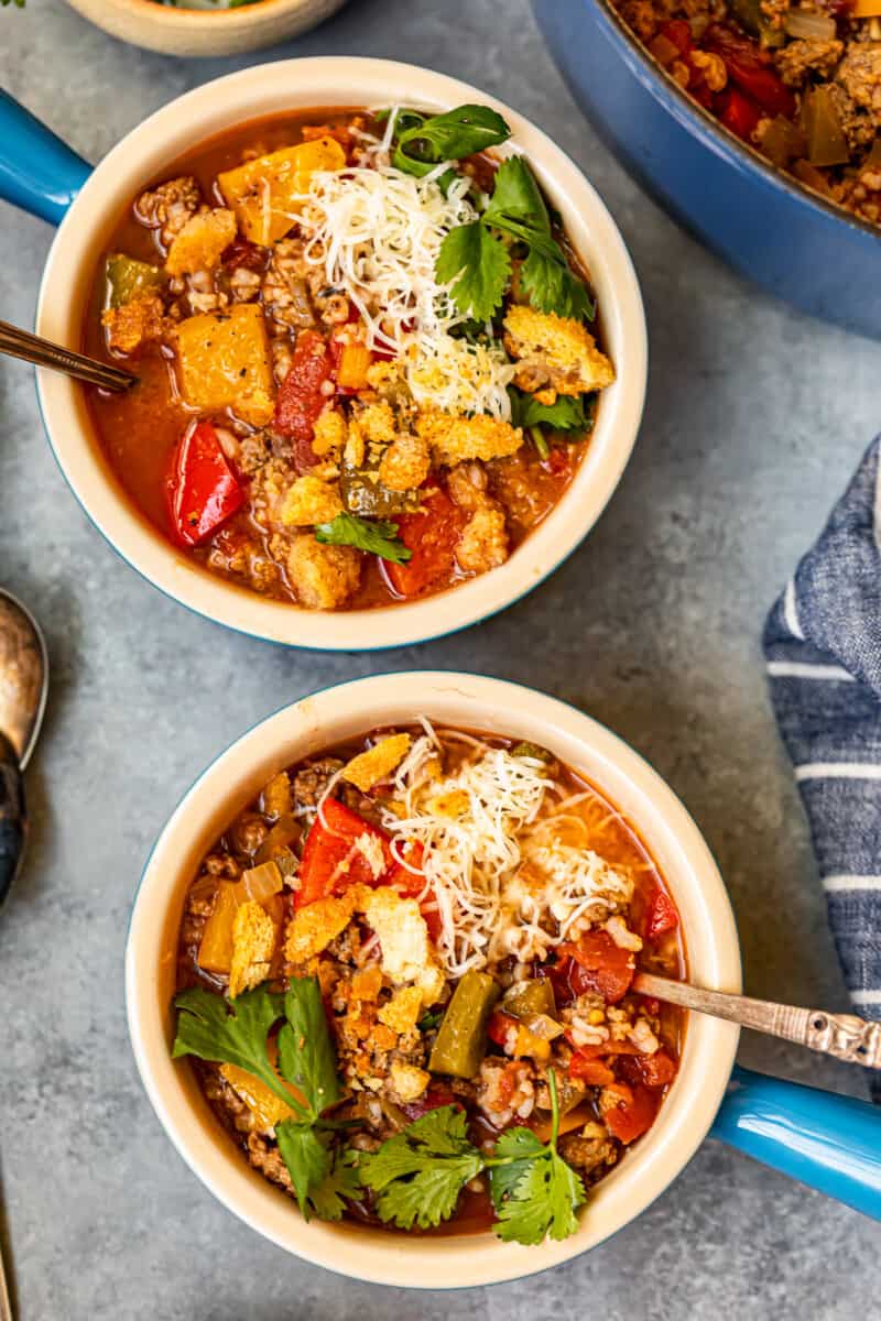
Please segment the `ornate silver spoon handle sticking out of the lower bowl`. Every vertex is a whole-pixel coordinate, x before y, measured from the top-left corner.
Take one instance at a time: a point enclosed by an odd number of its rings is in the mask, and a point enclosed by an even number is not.
[[[826,1013],[822,1009],[798,1009],[771,1000],[752,1000],[725,991],[703,991],[687,982],[671,982],[652,972],[638,972],[634,991],[651,995],[667,1004],[680,1004],[697,1013],[740,1022],[742,1028],[767,1032],[771,1037],[795,1041],[799,1046],[820,1050],[836,1059],[866,1069],[881,1069],[881,1022],[866,1022],[853,1013]]]

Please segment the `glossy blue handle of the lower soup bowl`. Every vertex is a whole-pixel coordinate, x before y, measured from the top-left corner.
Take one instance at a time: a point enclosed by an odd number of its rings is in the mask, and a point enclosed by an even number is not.
[[[711,1136],[881,1221],[881,1106],[737,1066]]]

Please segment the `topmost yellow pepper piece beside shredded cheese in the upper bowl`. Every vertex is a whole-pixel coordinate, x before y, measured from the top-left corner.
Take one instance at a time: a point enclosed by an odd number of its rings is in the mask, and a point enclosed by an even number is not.
[[[335,139],[316,137],[225,170],[217,181],[244,236],[268,247],[296,221],[302,209],[296,198],[309,188],[310,176],[345,164],[346,153]]]

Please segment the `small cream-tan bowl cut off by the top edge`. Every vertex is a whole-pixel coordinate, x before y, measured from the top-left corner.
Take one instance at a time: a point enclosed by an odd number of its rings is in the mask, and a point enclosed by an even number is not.
[[[168,55],[236,55],[317,26],[345,0],[256,0],[240,9],[172,9],[156,0],[67,0],[111,37]]]

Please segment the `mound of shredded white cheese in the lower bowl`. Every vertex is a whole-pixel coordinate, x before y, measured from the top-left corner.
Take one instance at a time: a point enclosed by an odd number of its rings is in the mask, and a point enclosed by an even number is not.
[[[437,736],[423,724],[425,734],[395,777],[403,815],[387,808],[383,824],[409,871],[417,868],[405,861],[404,845],[421,844],[421,897],[437,905],[437,952],[449,978],[507,954],[544,958],[630,902],[631,878],[579,839],[584,822],[555,812],[561,789],[543,761],[444,732],[444,740],[473,746],[454,774],[440,778]],[[452,795],[461,810],[439,811]]]

